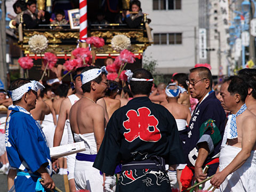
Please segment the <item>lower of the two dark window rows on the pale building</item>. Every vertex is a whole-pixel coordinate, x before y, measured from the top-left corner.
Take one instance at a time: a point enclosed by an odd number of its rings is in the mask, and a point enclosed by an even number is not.
[[[182,44],[182,33],[154,34],[154,44],[155,45]]]

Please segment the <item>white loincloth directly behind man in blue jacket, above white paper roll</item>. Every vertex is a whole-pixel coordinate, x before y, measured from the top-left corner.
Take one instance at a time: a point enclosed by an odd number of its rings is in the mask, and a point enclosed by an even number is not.
[[[53,138],[55,133],[55,125],[53,123],[52,114],[45,115],[44,121],[41,124],[48,146],[53,147]]]

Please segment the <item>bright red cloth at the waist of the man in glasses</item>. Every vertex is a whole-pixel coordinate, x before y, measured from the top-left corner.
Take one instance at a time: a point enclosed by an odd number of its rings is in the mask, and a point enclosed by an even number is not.
[[[214,163],[219,163],[219,157],[214,158],[212,161],[210,161],[206,165],[211,165],[211,164],[214,164]],[[194,175],[192,170],[195,170],[195,167],[187,166],[187,165],[182,170],[181,176],[180,176],[180,182],[181,182],[181,185],[182,185],[182,190],[186,190],[187,188],[189,188],[191,186],[191,181],[192,181],[193,175]]]

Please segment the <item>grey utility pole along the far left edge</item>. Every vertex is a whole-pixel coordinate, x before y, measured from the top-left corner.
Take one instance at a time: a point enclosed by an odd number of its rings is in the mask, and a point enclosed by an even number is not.
[[[0,78],[7,89],[6,66],[6,32],[5,32],[5,0],[1,3],[2,18],[0,20]]]

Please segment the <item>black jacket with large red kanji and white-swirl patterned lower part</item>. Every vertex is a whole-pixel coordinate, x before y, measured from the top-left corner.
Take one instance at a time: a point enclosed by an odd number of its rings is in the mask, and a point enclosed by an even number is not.
[[[169,165],[181,164],[185,163],[181,145],[177,124],[170,112],[165,107],[151,102],[148,97],[138,97],[130,100],[111,116],[93,166],[113,175],[118,163],[143,161],[154,156],[164,158],[165,163]],[[163,181],[163,188],[170,186],[167,174],[163,171],[131,171],[126,171],[127,174],[125,171],[121,173],[123,176],[118,180],[118,191],[126,191],[127,185],[131,187],[130,191],[150,191],[147,189],[150,180],[147,178],[150,177],[155,177],[151,187],[157,186],[159,178]],[[132,174],[134,179],[129,179],[128,173]],[[141,183],[141,186],[135,185],[135,182]],[[132,186],[137,186],[138,189]]]

